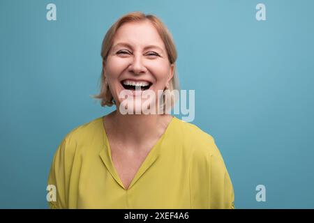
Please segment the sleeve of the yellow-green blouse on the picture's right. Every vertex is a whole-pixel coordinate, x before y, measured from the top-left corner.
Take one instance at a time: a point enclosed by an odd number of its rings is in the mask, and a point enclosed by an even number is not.
[[[234,209],[232,182],[214,138],[199,146],[189,168],[191,208]]]

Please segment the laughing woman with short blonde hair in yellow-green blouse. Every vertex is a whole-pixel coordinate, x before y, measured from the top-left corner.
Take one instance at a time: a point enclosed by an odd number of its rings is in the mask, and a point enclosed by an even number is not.
[[[50,169],[57,190],[50,208],[234,208],[214,139],[164,110],[147,113],[174,105],[174,95],[157,100],[158,91],[178,89],[165,25],[154,15],[124,15],[107,31],[101,56],[96,98],[117,109],[64,137]]]

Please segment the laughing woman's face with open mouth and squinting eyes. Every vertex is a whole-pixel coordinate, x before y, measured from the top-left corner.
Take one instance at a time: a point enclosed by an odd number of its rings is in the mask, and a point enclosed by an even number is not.
[[[147,89],[154,91],[157,98],[158,90],[163,91],[170,84],[174,66],[169,62],[165,45],[156,28],[151,22],[142,21],[127,22],[119,27],[107,61],[103,61],[103,68],[118,107],[124,100],[119,97],[124,90],[131,90],[124,93],[142,103],[152,100],[137,94]],[[135,89],[140,91],[135,94]]]

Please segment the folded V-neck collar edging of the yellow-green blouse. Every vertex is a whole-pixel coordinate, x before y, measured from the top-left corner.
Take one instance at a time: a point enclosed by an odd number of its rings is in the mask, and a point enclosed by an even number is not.
[[[114,178],[114,180],[117,181],[117,183],[124,189],[124,190],[129,190],[135,182],[144,174],[149,167],[151,167],[152,164],[158,159],[160,155],[160,144],[161,142],[165,139],[167,136],[167,133],[170,131],[172,128],[172,125],[174,123],[174,119],[176,117],[172,116],[172,119],[170,123],[168,123],[167,128],[165,129],[165,132],[161,135],[161,137],[158,139],[156,144],[151,148],[151,151],[149,151],[147,157],[145,157],[144,161],[142,162],[140,168],[137,170],[134,178],[132,179],[130,185],[128,186],[128,189],[124,187],[124,184],[122,183],[119,174],[117,173],[116,168],[114,167],[114,164],[112,162],[112,155],[111,155],[111,148],[109,144],[109,140],[107,138],[107,134],[105,132],[105,127],[103,125],[103,116],[99,118],[99,124],[101,125],[101,135],[103,139],[103,149],[101,149],[99,155],[101,157],[101,160],[103,160],[105,166],[107,167],[108,171]]]

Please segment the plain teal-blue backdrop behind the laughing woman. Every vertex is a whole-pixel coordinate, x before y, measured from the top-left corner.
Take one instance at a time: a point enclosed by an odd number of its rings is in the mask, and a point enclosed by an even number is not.
[[[57,21],[46,20],[47,3]],[[266,21],[255,6],[264,3]],[[0,1],[0,208],[47,208],[67,132],[103,116],[100,47],[118,17],[153,13],[174,36],[194,124],[223,155],[236,208],[314,208],[314,1]],[[255,187],[265,185],[266,202]]]

